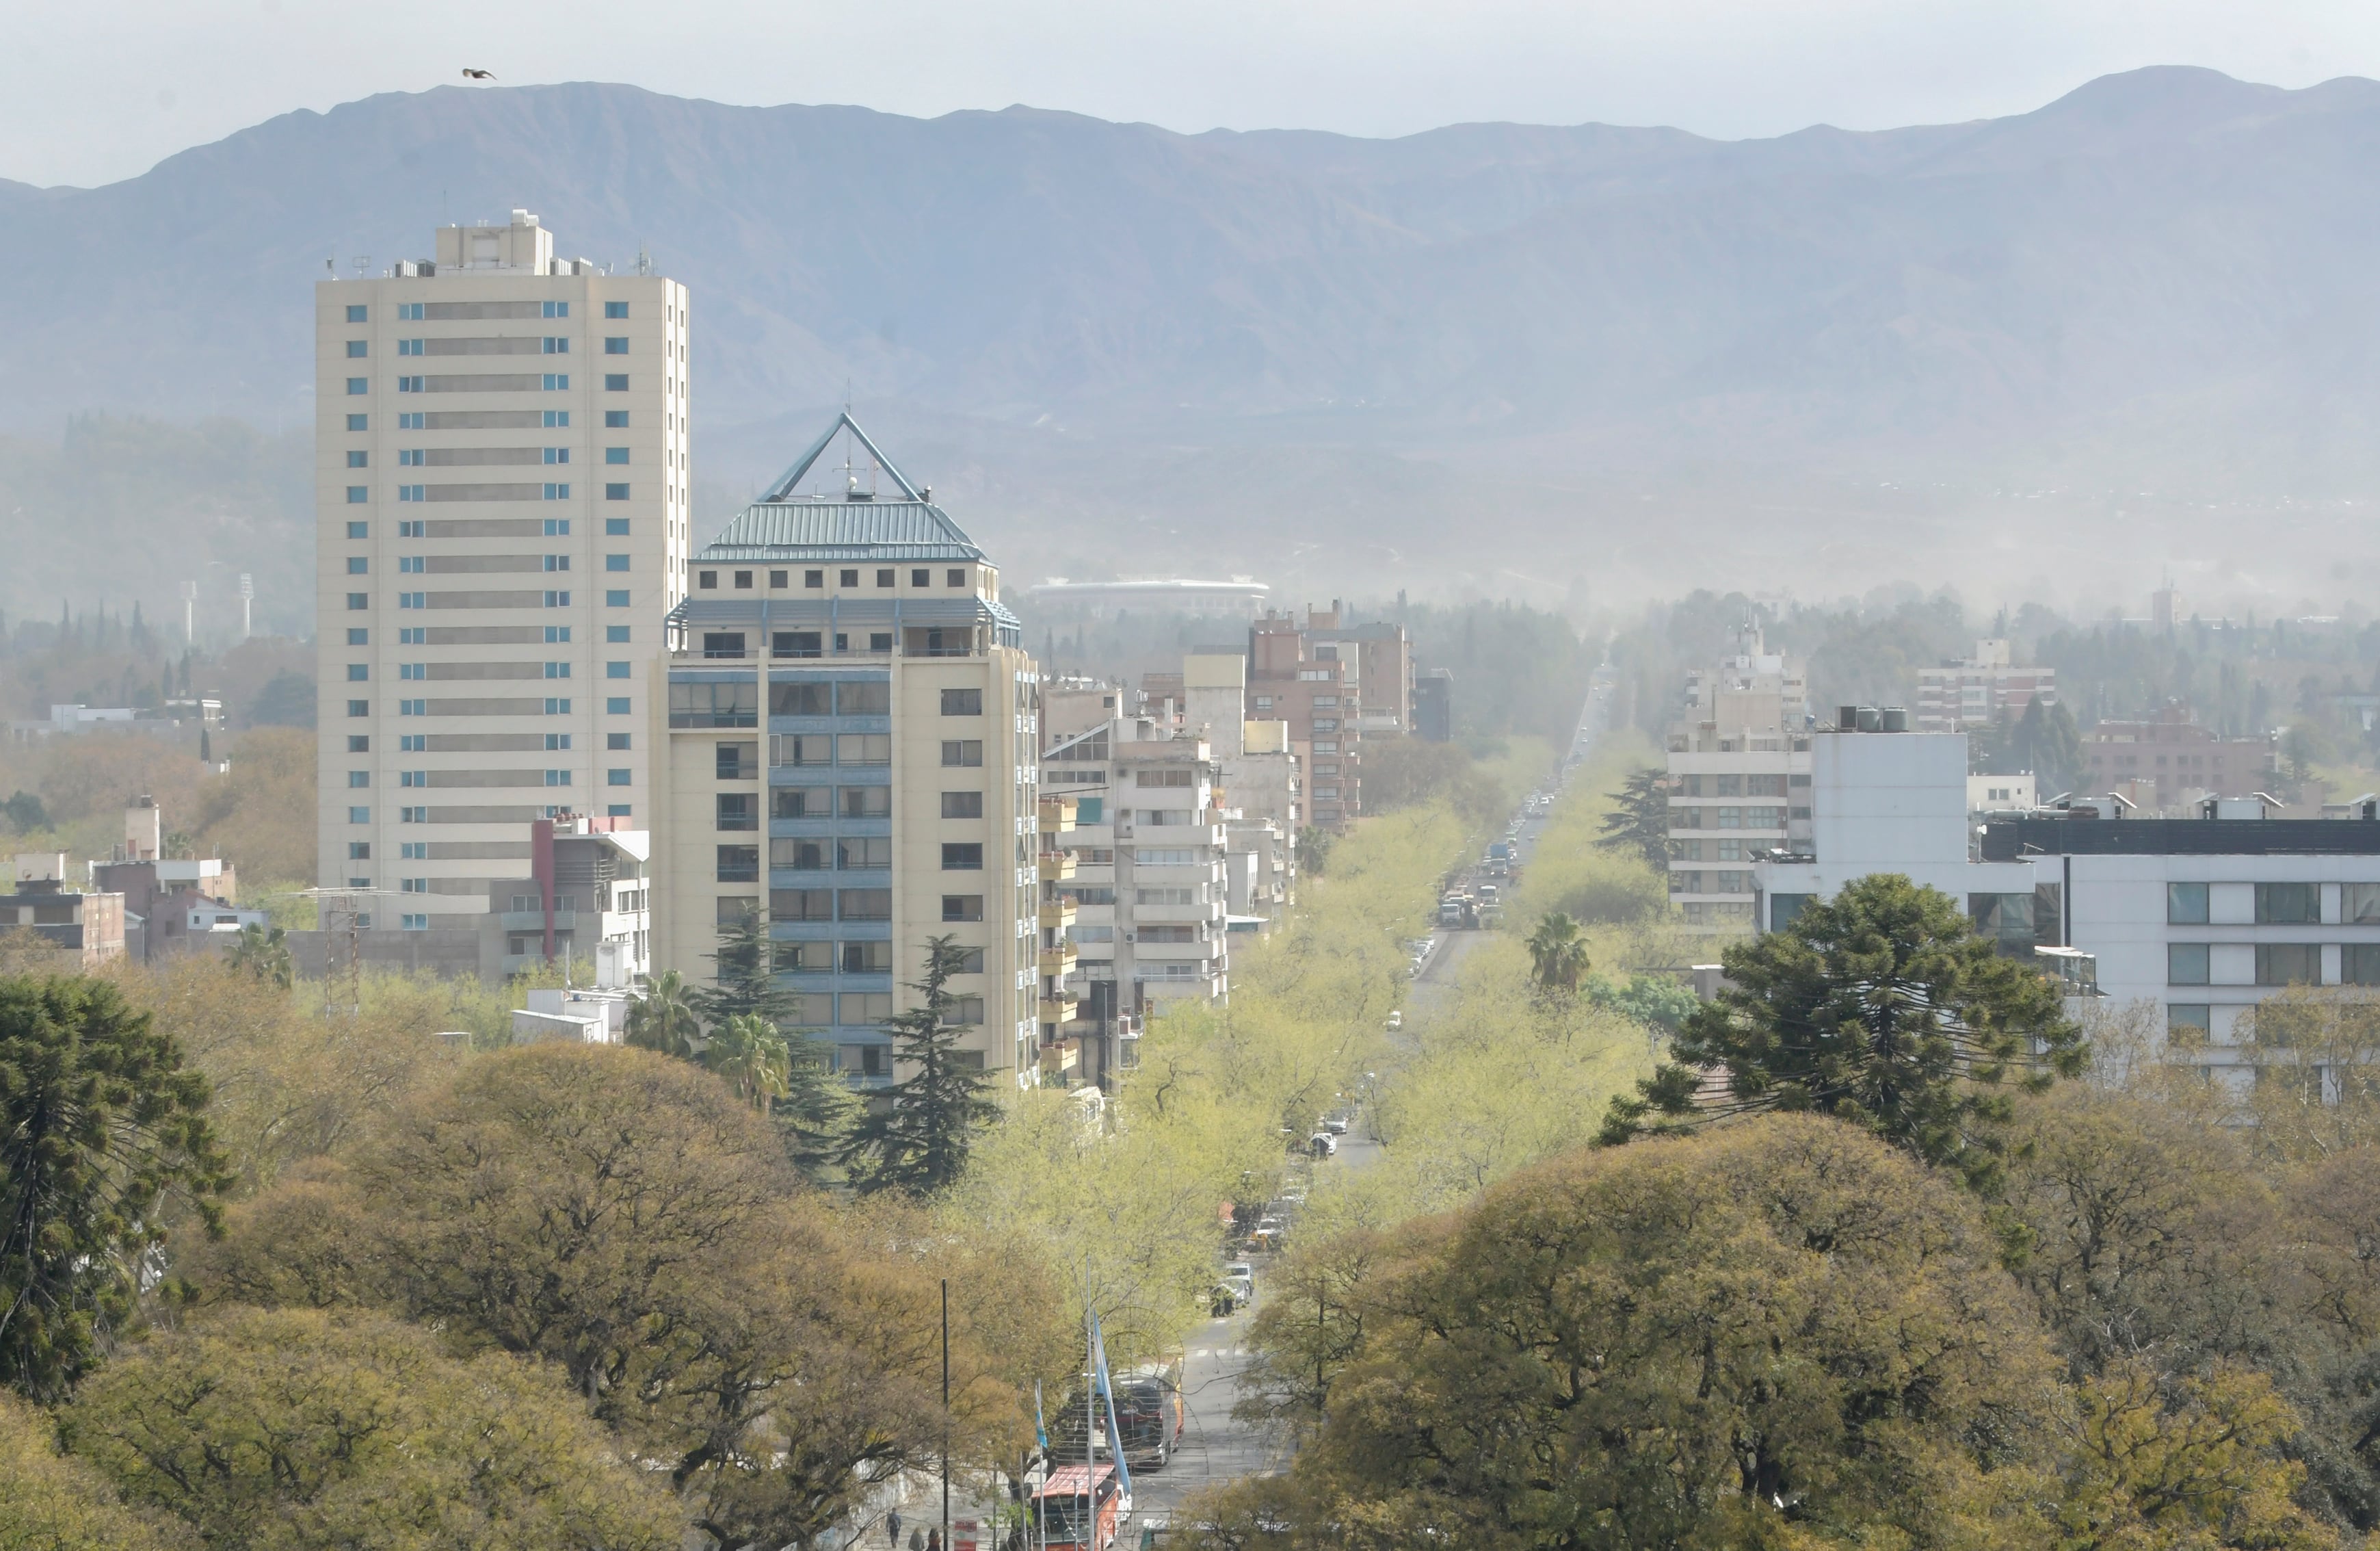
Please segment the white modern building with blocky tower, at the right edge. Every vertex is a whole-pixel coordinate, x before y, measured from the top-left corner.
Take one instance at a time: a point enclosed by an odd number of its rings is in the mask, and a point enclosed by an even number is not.
[[[2004,953],[2097,977],[2247,1070],[2240,1017],[2287,986],[2380,986],[2380,803],[2282,820],[2256,798],[2199,817],[2121,817],[2097,798],[1966,812],[1966,736],[1830,729],[1811,739],[1811,839],[1754,865],[1761,929],[1871,872],[1961,901]]]

